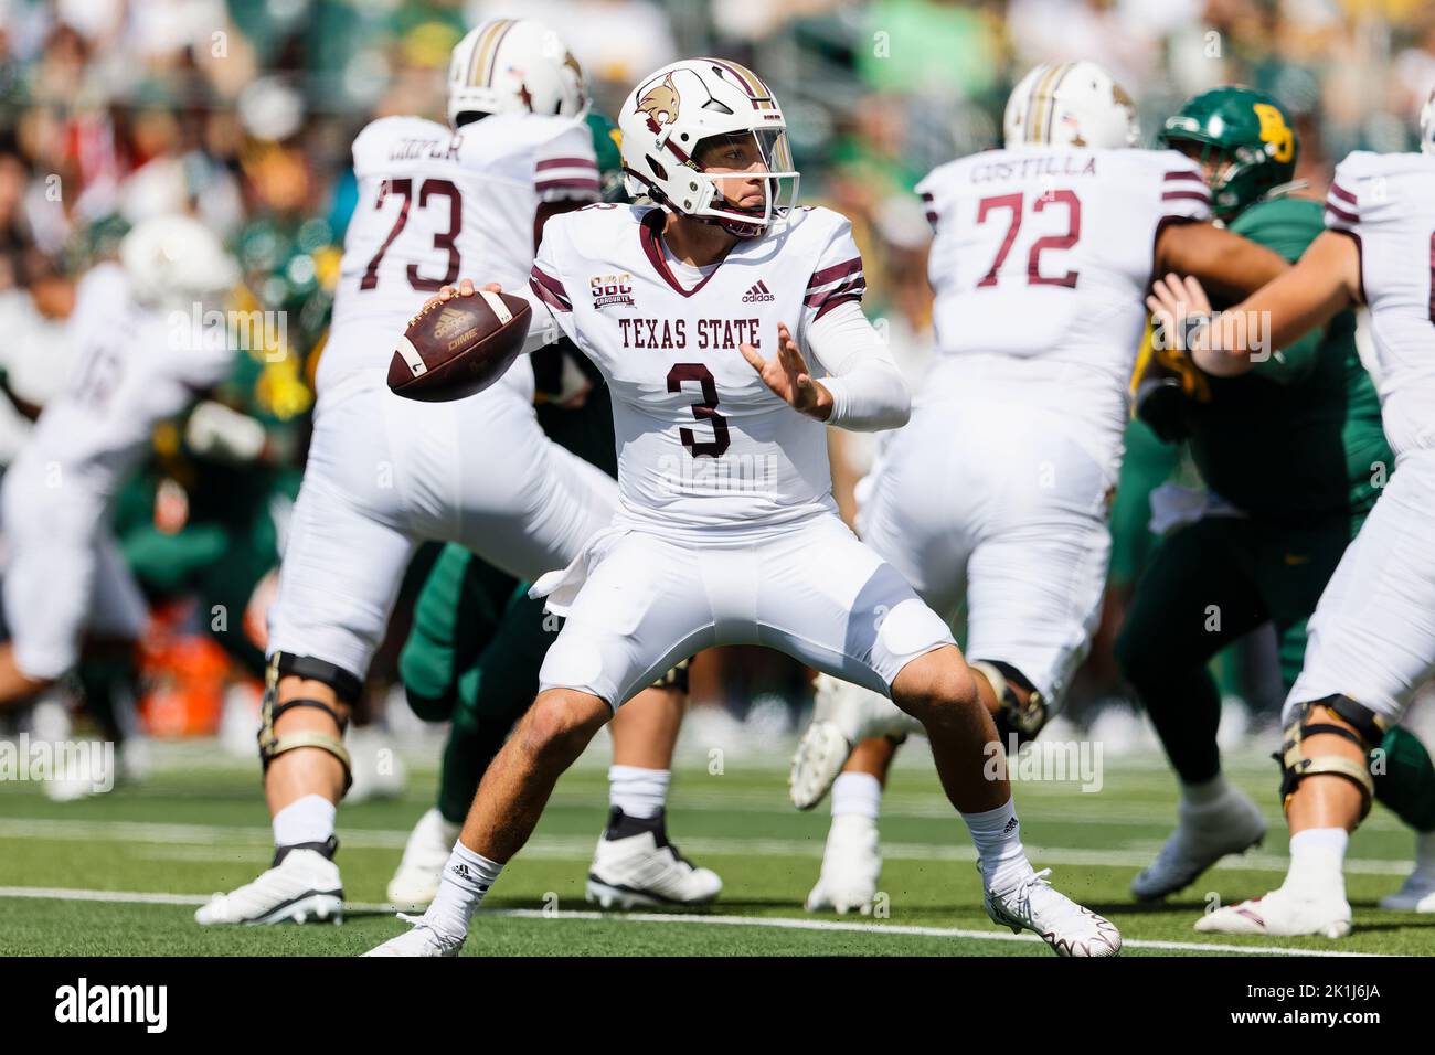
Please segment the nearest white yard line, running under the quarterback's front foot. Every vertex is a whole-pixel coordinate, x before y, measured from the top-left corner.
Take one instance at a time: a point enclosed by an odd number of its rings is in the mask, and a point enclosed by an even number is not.
[[[204,894],[156,894],[128,890],[72,890],[63,887],[0,887],[0,899],[27,897],[39,900],[60,901],[108,901],[119,904],[172,904],[197,906],[210,899]],[[387,904],[354,903],[347,909],[353,911],[390,911]],[[904,934],[908,937],[960,937],[971,942],[1040,942],[1035,934],[1009,934],[999,930],[961,930],[957,927],[908,927],[897,923],[845,923],[841,920],[804,920],[782,916],[705,916],[689,913],[600,913],[600,911],[568,911],[560,909],[547,911],[542,909],[498,909],[482,911],[484,916],[508,916],[524,920],[607,920],[621,923],[696,923],[705,926],[726,927],[769,927],[773,930],[822,930],[852,934]],[[1159,952],[1204,952],[1204,953],[1238,953],[1244,956],[1376,956],[1376,953],[1345,953],[1327,949],[1296,949],[1280,946],[1244,946],[1217,944],[1203,942],[1147,942],[1142,939],[1128,939],[1126,949],[1154,949]]]

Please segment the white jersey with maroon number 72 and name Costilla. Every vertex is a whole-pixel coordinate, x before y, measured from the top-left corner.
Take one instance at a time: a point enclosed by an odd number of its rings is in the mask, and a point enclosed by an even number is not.
[[[1104,433],[1125,425],[1155,238],[1210,217],[1195,162],[1175,151],[987,151],[918,187],[936,237],[928,277],[943,357],[1045,395]]]

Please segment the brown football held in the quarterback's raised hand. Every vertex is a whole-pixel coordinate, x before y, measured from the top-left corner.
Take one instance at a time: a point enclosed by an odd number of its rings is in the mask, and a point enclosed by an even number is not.
[[[389,389],[442,403],[482,392],[522,352],[532,309],[511,293],[479,290],[425,307],[389,362]]]

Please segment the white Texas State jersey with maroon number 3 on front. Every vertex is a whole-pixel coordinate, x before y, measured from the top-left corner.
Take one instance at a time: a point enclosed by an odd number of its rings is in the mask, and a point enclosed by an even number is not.
[[[821,370],[808,329],[867,289],[851,224],[798,208],[693,274],[667,254],[663,217],[651,205],[555,217],[530,284],[608,382],[618,520],[761,528],[834,510],[827,428],[773,395],[738,346],[772,357],[786,323]]]

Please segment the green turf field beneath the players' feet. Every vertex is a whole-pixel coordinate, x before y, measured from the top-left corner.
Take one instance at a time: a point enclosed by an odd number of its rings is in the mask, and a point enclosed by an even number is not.
[[[144,787],[80,802],[49,802],[37,785],[0,785],[0,955],[333,955],[363,952],[405,924],[380,901],[409,827],[428,807],[432,771],[410,774],[402,800],[340,810],[343,926],[205,929],[192,909],[211,891],[248,881],[270,857],[257,766],[230,759],[165,765]],[[218,754],[218,752],[215,752]],[[966,830],[943,800],[924,749],[898,759],[884,802],[880,917],[808,914],[827,804],[798,814],[778,754],[763,765],[679,769],[669,812],[673,840],[715,868],[723,896],[706,916],[600,916],[583,901],[606,805],[604,752],[558,785],[528,848],[504,873],[469,936],[466,955],[862,955],[1046,956],[982,910]],[[1264,893],[1284,871],[1286,835],[1271,789],[1274,765],[1240,759],[1233,777],[1266,810],[1264,850],[1201,877],[1161,906],[1126,894],[1174,817],[1170,774],[1155,758],[1106,759],[1105,787],[1017,784],[1023,837],[1060,890],[1109,916],[1126,955],[1233,950],[1435,953],[1435,916],[1376,907],[1409,868],[1413,841],[1376,810],[1350,847],[1355,933],[1345,940],[1197,934],[1208,897]],[[1174,944],[1168,944],[1174,943]]]

